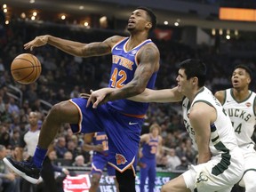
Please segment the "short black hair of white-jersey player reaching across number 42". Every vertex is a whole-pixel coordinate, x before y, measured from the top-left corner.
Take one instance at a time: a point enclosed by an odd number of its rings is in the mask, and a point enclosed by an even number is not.
[[[180,63],[180,68],[185,69],[187,79],[192,77],[198,78],[198,86],[204,86],[206,80],[206,66],[202,60],[188,59]]]

